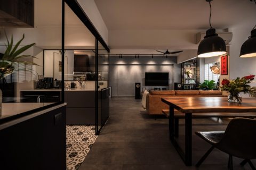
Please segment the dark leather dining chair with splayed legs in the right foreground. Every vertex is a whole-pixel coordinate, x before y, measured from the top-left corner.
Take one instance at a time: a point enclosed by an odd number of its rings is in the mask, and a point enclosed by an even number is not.
[[[255,169],[251,159],[256,158],[256,120],[250,118],[234,118],[226,131],[195,132],[210,143],[212,147],[196,164],[199,167],[214,148],[229,155],[228,168],[233,169],[233,156],[244,159],[241,166],[249,163]]]

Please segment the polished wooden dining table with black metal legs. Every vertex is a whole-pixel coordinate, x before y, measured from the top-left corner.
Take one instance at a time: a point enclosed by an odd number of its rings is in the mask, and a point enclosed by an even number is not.
[[[256,117],[256,98],[243,98],[242,103],[228,102],[227,97],[170,97],[162,98],[170,106],[170,140],[187,166],[192,164],[192,115],[195,113],[230,114],[230,117]],[[174,137],[174,109],[185,114],[185,151]],[[241,113],[241,116],[239,116]]]

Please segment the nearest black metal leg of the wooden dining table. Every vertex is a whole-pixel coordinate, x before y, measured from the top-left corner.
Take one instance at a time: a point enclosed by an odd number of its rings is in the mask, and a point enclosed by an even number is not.
[[[192,164],[192,114],[185,114],[185,164]]]

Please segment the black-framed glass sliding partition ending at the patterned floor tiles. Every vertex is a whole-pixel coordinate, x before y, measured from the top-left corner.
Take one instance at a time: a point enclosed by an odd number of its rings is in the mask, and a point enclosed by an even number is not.
[[[65,34],[61,51],[65,52],[62,57],[67,58],[64,63],[67,124],[93,124],[99,134],[109,117],[109,101],[105,97],[109,86],[109,49],[77,1],[65,0],[63,11]]]

